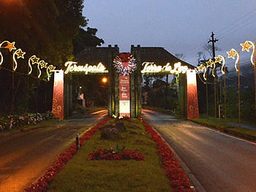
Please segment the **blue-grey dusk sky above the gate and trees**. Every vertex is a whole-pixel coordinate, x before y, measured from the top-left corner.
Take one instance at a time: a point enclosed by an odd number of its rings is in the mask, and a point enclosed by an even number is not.
[[[225,57],[232,47],[241,51],[241,42],[256,40],[255,0],[85,0],[83,15],[103,46],[117,44],[120,52],[129,52],[130,45],[165,47],[173,55],[184,53],[194,66],[211,31],[222,49],[217,54]],[[241,54],[249,61],[251,53]]]

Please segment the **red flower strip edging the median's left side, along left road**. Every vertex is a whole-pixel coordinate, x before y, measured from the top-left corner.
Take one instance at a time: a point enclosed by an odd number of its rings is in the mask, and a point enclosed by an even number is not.
[[[110,118],[107,118],[105,120],[102,120],[101,122],[97,123],[96,126],[91,128],[89,131],[86,131],[85,134],[83,134],[82,137],[80,137],[80,145],[83,145],[86,140],[90,139],[91,136],[97,131],[99,126],[106,123]],[[66,150],[64,153],[61,153],[59,157],[56,159],[56,161],[53,162],[53,164],[50,166],[50,169],[48,169],[44,176],[42,176],[39,180],[37,180],[37,183],[31,185],[29,188],[26,188],[25,191],[27,192],[42,192],[46,191],[48,188],[49,183],[53,180],[53,177],[60,172],[60,170],[64,167],[65,164],[72,158],[73,155],[77,152],[76,145],[73,144],[71,147],[69,147],[68,150]]]

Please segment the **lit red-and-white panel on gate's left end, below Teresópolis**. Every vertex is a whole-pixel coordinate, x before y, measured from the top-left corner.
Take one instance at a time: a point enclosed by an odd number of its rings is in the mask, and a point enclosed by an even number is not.
[[[54,72],[53,117],[64,119],[64,71]]]

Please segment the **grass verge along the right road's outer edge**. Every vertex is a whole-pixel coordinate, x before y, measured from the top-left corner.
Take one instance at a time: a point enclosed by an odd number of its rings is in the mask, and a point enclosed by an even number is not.
[[[227,134],[232,134],[236,137],[241,137],[244,139],[249,139],[256,142],[256,131],[249,130],[246,128],[239,128],[236,126],[230,126],[227,123],[219,122],[217,120],[209,120],[205,118],[192,119],[193,122],[198,123],[202,126],[208,126],[210,128],[215,128],[219,131],[225,132]]]

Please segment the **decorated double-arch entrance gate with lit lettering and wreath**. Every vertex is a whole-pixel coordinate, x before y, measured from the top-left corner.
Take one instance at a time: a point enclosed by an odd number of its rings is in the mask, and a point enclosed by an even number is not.
[[[67,118],[72,108],[72,74],[108,75],[108,115],[140,117],[142,74],[178,74],[181,115],[198,118],[197,83],[194,66],[179,60],[162,47],[135,47],[119,53],[117,45],[88,47],[63,70],[55,71],[53,115]],[[63,83],[64,82],[64,83]]]

